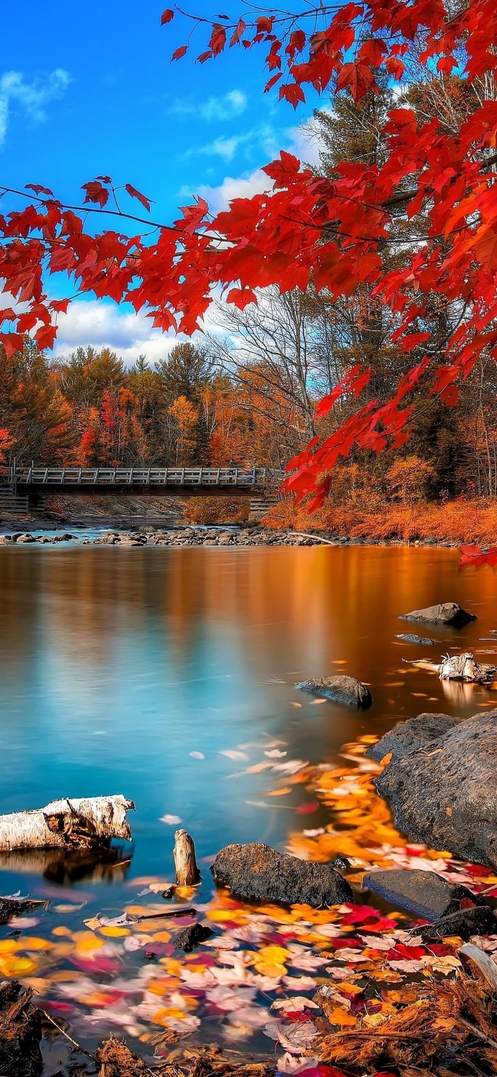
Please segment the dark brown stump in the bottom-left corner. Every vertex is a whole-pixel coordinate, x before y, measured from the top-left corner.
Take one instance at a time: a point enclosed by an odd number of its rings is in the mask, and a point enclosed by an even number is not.
[[[0,983],[0,1074],[41,1077],[43,1059],[41,1013],[31,1003],[32,990],[17,980]]]

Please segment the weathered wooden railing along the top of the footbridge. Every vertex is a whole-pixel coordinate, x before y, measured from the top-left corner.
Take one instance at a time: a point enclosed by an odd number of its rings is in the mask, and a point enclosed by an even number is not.
[[[257,487],[266,467],[38,467],[10,470],[13,486]]]

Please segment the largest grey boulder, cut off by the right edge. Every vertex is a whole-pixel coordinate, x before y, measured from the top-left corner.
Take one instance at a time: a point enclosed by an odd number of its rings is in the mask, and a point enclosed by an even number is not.
[[[375,786],[414,841],[497,868],[497,711],[392,758]]]

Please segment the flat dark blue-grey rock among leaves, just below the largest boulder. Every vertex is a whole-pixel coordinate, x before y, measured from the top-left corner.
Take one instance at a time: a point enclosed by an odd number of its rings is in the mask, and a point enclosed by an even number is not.
[[[481,898],[467,886],[450,883],[435,871],[410,871],[408,868],[369,871],[363,879],[363,887],[423,920],[438,921],[458,912],[463,900],[481,904]]]

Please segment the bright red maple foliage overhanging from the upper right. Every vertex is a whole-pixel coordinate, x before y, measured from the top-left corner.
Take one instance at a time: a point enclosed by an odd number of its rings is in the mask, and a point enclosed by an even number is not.
[[[129,302],[137,311],[146,308],[154,326],[186,334],[199,327],[218,285],[241,308],[269,284],[284,292],[312,283],[330,302],[372,288],[396,316],[394,341],[413,353],[412,367],[386,403],[361,403],[370,374],[359,367],[321,402],[320,416],[343,395],[356,397],[357,408],[288,465],[285,488],[298,500],[311,495],[312,509],[329,490],[333,464],[352,447],[379,452],[407,440],[414,387],[421,383],[451,406],[457,383],[482,353],[497,358],[497,8],[494,0],[316,0],[303,12],[300,5],[248,9],[236,19],[167,9],[161,23],[178,18],[189,25],[188,44],[173,59],[191,47],[194,33],[207,33],[201,64],[227,46],[260,45],[270,74],[265,92],[278,85],[280,98],[294,107],[309,85],[321,94],[349,89],[358,100],[377,92],[379,70],[399,81],[414,62],[427,78],[450,79],[455,71],[477,88],[477,107],[452,134],[437,117],[423,122],[402,103],[387,116],[382,164],[349,162],[332,178],[322,178],[282,151],[265,168],[270,193],[237,198],[214,218],[197,198],[172,225],[152,221],[153,238],[150,199],[129,183],[116,187],[108,176],[84,184],[83,206],[63,205],[36,184],[16,192],[0,187],[0,195],[20,202],[0,216],[0,277],[13,296],[13,306],[0,311],[8,354],[22,346],[24,333],[32,333],[40,348],[53,346],[57,312],[70,302],[48,298],[45,282],[55,272],[68,275],[72,295]],[[147,215],[125,212],[120,190]],[[382,250],[399,213],[408,220],[423,213],[426,227],[418,242],[411,237],[408,256],[393,268]],[[145,225],[146,236],[94,232],[88,214],[117,219],[120,228]],[[434,294],[452,310],[442,350],[440,341],[430,350],[426,328]]]

